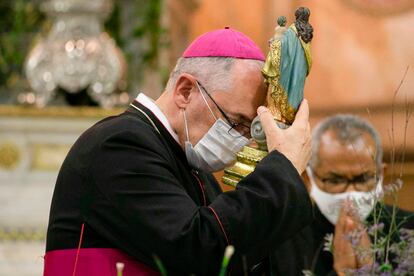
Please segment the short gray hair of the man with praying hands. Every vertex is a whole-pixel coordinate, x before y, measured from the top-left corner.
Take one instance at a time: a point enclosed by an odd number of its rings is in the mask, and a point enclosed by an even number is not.
[[[363,133],[369,134],[375,141],[375,162],[377,170],[380,170],[382,164],[382,146],[381,138],[375,128],[368,121],[351,114],[338,114],[330,116],[321,121],[312,132],[312,156],[309,165],[315,168],[318,165],[319,146],[322,135],[328,130],[332,130],[338,140],[343,143],[354,142],[361,138]]]

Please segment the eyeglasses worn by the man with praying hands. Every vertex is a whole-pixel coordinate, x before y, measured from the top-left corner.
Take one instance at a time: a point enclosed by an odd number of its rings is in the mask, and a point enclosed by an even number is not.
[[[313,175],[323,183],[327,191],[332,193],[343,193],[348,189],[349,185],[353,185],[355,190],[359,192],[371,191],[378,181],[378,175],[370,172],[356,175],[351,179],[341,175],[321,177],[316,172],[313,172]]]

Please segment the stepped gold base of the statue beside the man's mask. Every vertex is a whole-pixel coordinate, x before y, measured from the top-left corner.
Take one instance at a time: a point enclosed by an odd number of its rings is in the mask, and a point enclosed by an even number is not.
[[[222,181],[226,185],[237,186],[240,180],[254,171],[257,163],[262,160],[267,151],[246,146],[237,153],[237,161],[234,166],[224,170]]]

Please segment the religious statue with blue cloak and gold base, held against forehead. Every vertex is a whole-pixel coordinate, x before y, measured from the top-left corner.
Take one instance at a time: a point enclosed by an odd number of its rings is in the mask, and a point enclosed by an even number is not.
[[[267,107],[281,128],[289,127],[295,120],[303,99],[305,79],[312,66],[310,42],[313,28],[309,16],[308,8],[298,8],[295,12],[296,21],[288,28],[285,27],[286,17],[280,16],[275,33],[269,40],[269,53],[262,74],[268,85]],[[259,117],[253,120],[251,134],[257,147],[244,147],[237,154],[236,164],[224,171],[225,184],[235,186],[266,156],[266,136]]]

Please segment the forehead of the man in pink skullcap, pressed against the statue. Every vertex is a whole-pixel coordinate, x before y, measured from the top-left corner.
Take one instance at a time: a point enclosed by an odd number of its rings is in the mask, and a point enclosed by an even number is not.
[[[249,119],[256,117],[256,109],[264,104],[267,90],[261,69],[260,63],[251,60],[237,60],[233,64],[231,91],[220,93],[228,111]]]

